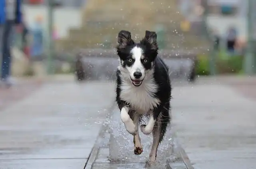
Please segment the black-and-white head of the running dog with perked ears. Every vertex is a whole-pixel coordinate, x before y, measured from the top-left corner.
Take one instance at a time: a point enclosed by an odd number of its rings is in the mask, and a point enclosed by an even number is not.
[[[140,86],[146,73],[154,66],[154,60],[158,54],[156,32],[146,31],[140,43],[135,43],[131,33],[122,30],[118,34],[116,48],[120,67],[129,74],[132,85]]]

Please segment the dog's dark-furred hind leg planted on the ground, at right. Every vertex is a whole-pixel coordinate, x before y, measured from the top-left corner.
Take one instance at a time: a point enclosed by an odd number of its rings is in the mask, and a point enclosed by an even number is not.
[[[159,114],[158,118],[156,119],[156,123],[153,133],[153,144],[152,149],[149,155],[149,163],[152,164],[156,161],[156,152],[158,149],[159,143],[163,140],[164,134],[166,133],[166,128],[170,123],[170,116],[168,111],[164,111]]]

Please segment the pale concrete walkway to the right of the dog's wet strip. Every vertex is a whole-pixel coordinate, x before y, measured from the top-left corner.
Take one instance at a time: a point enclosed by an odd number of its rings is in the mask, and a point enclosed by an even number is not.
[[[224,83],[218,79],[212,85],[174,89],[172,115],[179,142],[196,169],[255,169],[256,102],[218,84]]]

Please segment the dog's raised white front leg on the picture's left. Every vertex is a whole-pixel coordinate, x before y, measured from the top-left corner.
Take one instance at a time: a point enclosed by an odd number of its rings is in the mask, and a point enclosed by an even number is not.
[[[134,125],[134,122],[130,118],[130,115],[128,114],[129,108],[127,106],[122,107],[121,109],[121,120],[124,123],[124,126],[127,130],[132,135],[136,135],[138,128]]]

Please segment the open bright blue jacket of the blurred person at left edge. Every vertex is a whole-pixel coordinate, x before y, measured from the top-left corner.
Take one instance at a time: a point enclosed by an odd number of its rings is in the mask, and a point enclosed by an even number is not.
[[[21,2],[22,0],[16,0],[16,10],[15,10],[15,24],[20,24],[22,22],[21,16]],[[0,0],[0,25],[6,22],[6,13],[5,13],[6,1]]]

